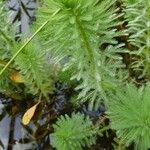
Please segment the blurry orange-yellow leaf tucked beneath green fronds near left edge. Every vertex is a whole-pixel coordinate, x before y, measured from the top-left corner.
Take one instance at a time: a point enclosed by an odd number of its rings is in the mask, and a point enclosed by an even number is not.
[[[19,72],[13,72],[10,76],[10,79],[16,83],[24,83],[24,79]]]

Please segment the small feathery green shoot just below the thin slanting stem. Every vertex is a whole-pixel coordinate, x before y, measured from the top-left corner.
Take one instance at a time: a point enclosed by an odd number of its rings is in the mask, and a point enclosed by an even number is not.
[[[22,43],[21,43],[22,44]],[[16,45],[13,53],[21,44]],[[47,97],[53,90],[51,68],[48,64],[46,52],[40,47],[38,41],[28,44],[15,59],[16,69],[23,75],[28,91],[32,94],[41,93]]]

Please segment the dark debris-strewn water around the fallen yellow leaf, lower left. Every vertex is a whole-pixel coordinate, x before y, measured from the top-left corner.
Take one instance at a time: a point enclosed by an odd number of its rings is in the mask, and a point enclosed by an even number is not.
[[[32,122],[24,126],[22,116],[35,104],[34,99],[18,101],[0,95],[0,150],[53,150],[49,136],[52,124],[59,115],[73,111],[68,99],[68,87],[57,85],[52,102],[41,102]]]

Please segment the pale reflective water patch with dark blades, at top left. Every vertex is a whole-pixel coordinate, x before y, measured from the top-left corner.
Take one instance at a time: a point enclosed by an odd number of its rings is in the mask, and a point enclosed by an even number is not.
[[[12,12],[12,22],[20,22],[18,33],[29,34],[29,25],[35,20],[37,0],[8,0],[8,8]]]

